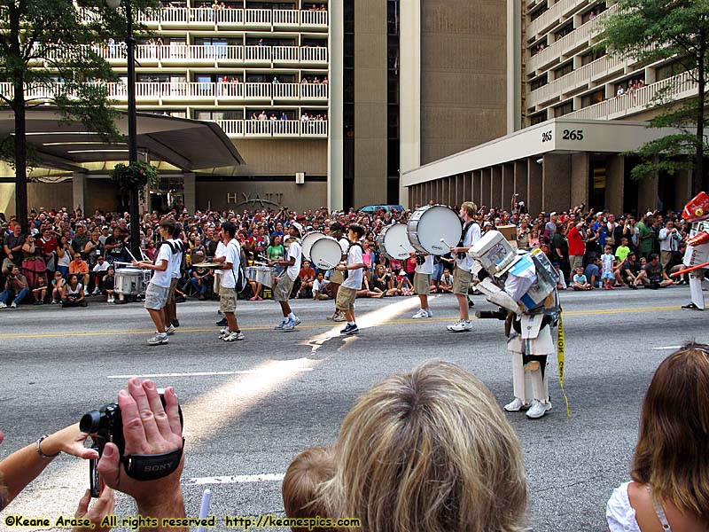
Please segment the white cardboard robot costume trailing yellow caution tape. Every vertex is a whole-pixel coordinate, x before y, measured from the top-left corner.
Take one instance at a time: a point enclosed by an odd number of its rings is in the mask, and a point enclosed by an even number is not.
[[[541,249],[518,250],[500,231],[488,231],[469,254],[475,260],[473,272],[480,278],[487,272],[476,288],[500,307],[477,316],[506,322],[515,398],[504,409],[528,409],[528,418],[541,418],[551,409],[547,357],[557,353],[552,332],[560,317],[557,272]]]

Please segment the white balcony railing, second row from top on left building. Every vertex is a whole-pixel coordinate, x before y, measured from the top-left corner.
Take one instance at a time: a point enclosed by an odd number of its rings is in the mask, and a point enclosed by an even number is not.
[[[127,59],[126,47],[122,43],[94,46],[100,57],[113,62]],[[58,52],[50,59],[58,58]],[[144,65],[205,63],[253,64],[327,64],[327,48],[312,46],[242,46],[236,44],[138,44],[136,59]]]

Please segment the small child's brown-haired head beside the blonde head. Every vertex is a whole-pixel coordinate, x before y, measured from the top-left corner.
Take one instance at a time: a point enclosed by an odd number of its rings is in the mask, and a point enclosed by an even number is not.
[[[289,518],[332,517],[331,506],[321,492],[323,482],[330,481],[335,473],[332,450],[313,447],[293,458],[285,471],[281,493],[285,515]],[[330,528],[315,528],[325,531]],[[292,527],[292,532],[306,532],[308,528]]]

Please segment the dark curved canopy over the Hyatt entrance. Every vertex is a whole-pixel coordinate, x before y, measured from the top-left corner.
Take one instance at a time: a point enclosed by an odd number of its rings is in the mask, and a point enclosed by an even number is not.
[[[105,143],[81,121],[66,121],[47,106],[27,109],[27,145],[32,146],[43,168],[86,171],[82,163],[129,159],[126,143]],[[128,135],[128,113],[118,111],[116,127]],[[244,160],[230,138],[214,122],[136,113],[138,152],[149,160],[162,160],[191,172],[200,169],[233,167]],[[0,110],[0,137],[12,135],[14,113]]]

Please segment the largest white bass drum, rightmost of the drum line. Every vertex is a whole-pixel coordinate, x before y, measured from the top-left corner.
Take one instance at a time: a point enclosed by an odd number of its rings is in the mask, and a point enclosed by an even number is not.
[[[443,205],[417,208],[407,223],[409,242],[421,253],[447,254],[463,234],[463,225],[455,211]],[[446,243],[441,242],[444,240]]]

